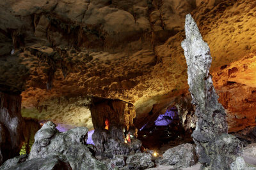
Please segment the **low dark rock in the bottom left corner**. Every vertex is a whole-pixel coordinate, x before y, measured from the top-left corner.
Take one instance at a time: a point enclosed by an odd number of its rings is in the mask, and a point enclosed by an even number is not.
[[[35,158],[24,162],[17,162],[15,166],[12,165],[12,160],[10,162],[5,162],[3,167],[0,167],[3,170],[26,170],[26,169],[38,169],[38,170],[58,170],[58,169],[67,169],[72,170],[70,165],[67,162],[64,162],[56,156],[50,156],[47,158]],[[10,167],[10,168],[9,168]]]

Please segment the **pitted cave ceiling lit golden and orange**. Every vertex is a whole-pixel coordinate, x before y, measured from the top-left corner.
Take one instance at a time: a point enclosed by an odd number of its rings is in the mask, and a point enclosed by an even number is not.
[[[87,96],[132,103],[137,118],[153,105],[162,111],[188,92],[180,43],[191,13],[229,125],[239,125],[231,131],[255,124],[256,1],[3,0],[0,8],[0,90],[22,92],[24,117],[92,129]]]

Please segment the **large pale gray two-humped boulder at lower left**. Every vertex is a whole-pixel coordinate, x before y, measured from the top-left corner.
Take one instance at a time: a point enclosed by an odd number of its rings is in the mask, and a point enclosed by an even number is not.
[[[67,161],[72,169],[104,169],[104,164],[96,160],[90,150],[83,145],[86,143],[87,132],[87,128],[77,127],[60,133],[55,124],[47,122],[36,132],[29,160],[56,155]]]

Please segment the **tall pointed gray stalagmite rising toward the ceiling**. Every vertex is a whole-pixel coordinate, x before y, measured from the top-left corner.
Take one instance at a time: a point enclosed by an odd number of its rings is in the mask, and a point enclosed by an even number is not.
[[[199,161],[204,169],[228,169],[241,153],[240,141],[227,134],[226,113],[218,103],[209,74],[212,62],[209,46],[202,39],[190,14],[186,16],[185,31],[186,39],[182,41],[182,48],[188,65],[189,91],[198,117],[192,136]]]

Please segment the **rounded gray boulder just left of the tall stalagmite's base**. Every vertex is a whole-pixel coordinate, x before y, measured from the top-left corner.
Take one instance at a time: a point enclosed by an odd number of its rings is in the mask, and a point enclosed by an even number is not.
[[[195,146],[189,143],[166,150],[160,164],[164,166],[189,167],[197,162]]]

